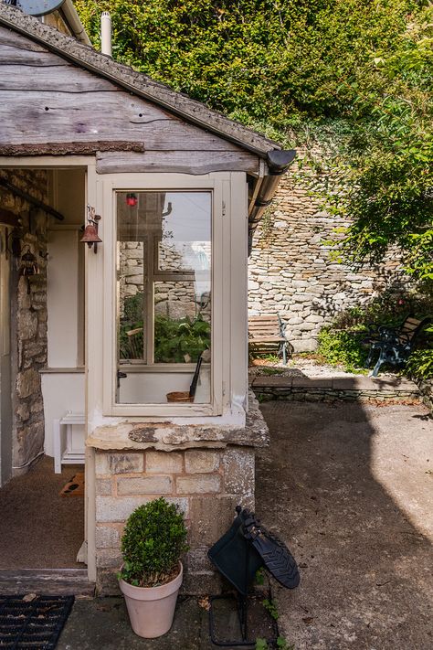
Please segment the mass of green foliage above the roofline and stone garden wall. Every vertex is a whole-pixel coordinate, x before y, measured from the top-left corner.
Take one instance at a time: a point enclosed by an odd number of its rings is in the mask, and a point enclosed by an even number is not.
[[[332,142],[336,257],[433,280],[433,8],[423,0],[75,0],[94,45],[282,144]],[[313,161],[310,159],[309,164]],[[316,171],[317,165],[316,165]],[[336,191],[337,190],[337,191]],[[266,223],[265,223],[266,229]]]

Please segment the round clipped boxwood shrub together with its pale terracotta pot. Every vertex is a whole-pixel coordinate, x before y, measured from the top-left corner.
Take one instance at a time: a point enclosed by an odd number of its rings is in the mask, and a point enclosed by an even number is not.
[[[139,506],[121,538],[119,585],[132,630],[146,639],[169,631],[187,550],[184,516],[163,497]]]

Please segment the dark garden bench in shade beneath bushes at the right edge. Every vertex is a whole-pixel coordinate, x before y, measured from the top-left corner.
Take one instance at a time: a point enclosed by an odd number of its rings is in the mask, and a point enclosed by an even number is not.
[[[418,336],[431,322],[432,319],[429,317],[420,320],[409,314],[405,321],[397,327],[370,325],[369,336],[363,341],[364,345],[370,345],[365,368],[370,367],[375,352],[379,353],[375,368],[370,375],[377,377],[379,368],[384,363],[396,367],[403,366],[416,346]]]

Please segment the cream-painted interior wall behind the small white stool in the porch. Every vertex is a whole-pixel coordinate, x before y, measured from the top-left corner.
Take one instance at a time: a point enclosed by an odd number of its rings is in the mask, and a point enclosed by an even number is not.
[[[57,169],[50,195],[64,220],[48,229],[48,364],[42,373],[45,453],[54,454],[53,422],[84,413],[85,170]],[[84,441],[84,429],[80,432]]]

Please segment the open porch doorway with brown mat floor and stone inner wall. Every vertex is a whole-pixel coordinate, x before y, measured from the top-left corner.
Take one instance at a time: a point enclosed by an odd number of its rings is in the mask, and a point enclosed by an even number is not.
[[[65,436],[72,447],[60,445],[57,467],[54,458],[57,421],[85,418],[86,168],[15,167],[0,176],[0,201],[16,215],[8,240],[0,229],[0,582],[11,570],[72,570],[87,579],[85,558],[78,561],[84,425]],[[30,277],[26,252],[35,264]]]

